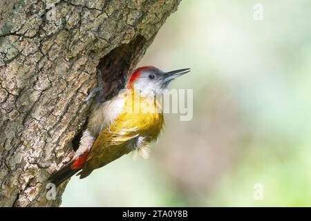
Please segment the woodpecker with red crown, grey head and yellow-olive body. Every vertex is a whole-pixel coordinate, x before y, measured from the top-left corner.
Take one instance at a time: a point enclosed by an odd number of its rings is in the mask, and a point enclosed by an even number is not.
[[[82,179],[131,151],[147,157],[149,144],[157,140],[164,124],[160,95],[169,82],[189,71],[165,73],[154,66],[135,69],[124,90],[94,108],[73,160],[54,173],[50,182],[59,186],[75,173]]]

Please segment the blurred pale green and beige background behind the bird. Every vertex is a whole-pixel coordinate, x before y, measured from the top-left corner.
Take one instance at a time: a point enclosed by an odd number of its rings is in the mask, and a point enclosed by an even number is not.
[[[165,115],[149,160],[73,177],[62,206],[311,206],[310,9],[183,0],[140,66],[191,68],[170,88],[194,89],[193,119]]]

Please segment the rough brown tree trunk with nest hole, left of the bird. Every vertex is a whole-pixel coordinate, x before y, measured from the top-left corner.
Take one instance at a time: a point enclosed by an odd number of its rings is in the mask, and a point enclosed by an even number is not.
[[[59,206],[102,70],[115,95],[180,0],[0,0],[0,206]]]

